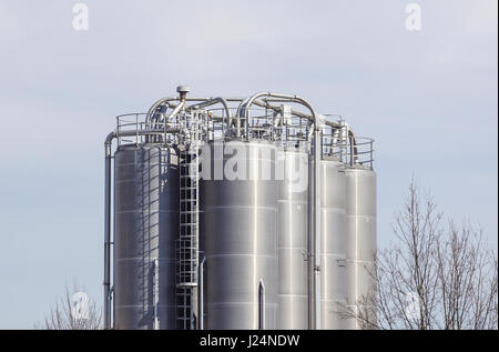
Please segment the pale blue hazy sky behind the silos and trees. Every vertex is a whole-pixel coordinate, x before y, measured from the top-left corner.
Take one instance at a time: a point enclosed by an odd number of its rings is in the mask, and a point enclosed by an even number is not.
[[[179,83],[307,98],[376,139],[378,242],[413,174],[497,249],[497,0],[0,0],[0,329],[30,329],[65,283],[101,299],[103,140]]]

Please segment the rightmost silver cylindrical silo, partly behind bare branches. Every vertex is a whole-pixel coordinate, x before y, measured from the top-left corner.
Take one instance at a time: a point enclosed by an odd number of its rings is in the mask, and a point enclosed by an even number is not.
[[[361,165],[347,168],[346,184],[347,295],[348,305],[355,309],[359,300],[376,294],[376,173]],[[348,329],[360,328],[354,319],[348,320]]]

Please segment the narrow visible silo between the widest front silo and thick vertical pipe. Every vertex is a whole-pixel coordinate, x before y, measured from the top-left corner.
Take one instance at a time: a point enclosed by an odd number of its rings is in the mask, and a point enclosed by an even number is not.
[[[308,154],[281,152],[278,194],[278,329],[307,329]]]

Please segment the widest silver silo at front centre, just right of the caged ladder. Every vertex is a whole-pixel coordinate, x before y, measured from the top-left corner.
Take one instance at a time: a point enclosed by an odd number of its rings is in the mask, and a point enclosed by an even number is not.
[[[211,143],[213,173],[223,168],[224,179],[200,182],[206,329],[276,329],[276,147],[267,141],[217,144],[228,154]],[[268,168],[267,180],[256,177]],[[238,179],[232,180],[233,171]]]

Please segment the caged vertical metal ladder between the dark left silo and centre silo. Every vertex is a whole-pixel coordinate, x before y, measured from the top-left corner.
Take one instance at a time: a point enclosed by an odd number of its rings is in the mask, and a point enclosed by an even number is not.
[[[189,123],[190,140],[184,141],[180,162],[180,233],[176,247],[176,295],[179,329],[194,330],[194,301],[198,263],[198,168],[197,124]]]

